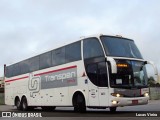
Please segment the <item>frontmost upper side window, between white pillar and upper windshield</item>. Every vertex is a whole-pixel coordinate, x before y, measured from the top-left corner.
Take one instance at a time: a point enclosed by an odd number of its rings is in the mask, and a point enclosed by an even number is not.
[[[83,42],[84,59],[104,56],[102,47],[97,38],[87,38]]]

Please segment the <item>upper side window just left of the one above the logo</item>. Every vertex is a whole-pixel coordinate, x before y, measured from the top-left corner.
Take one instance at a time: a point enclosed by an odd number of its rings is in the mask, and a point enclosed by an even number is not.
[[[25,74],[29,72],[29,60],[24,60],[19,63],[21,74]]]

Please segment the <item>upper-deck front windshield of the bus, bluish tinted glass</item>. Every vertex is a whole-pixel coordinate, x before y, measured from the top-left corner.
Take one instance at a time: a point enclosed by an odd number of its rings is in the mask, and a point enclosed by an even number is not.
[[[133,40],[101,36],[101,41],[108,56],[142,59],[142,55]]]

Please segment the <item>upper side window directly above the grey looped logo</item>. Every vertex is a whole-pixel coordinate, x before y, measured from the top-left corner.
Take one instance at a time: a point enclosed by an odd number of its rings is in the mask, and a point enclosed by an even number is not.
[[[39,56],[29,59],[30,72],[39,70]]]

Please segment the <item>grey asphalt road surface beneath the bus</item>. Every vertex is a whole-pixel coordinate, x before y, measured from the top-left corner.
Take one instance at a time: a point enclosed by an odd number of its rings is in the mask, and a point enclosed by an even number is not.
[[[56,119],[56,120],[75,120],[76,119],[87,119],[87,120],[100,120],[107,117],[107,119],[115,119],[115,120],[132,120],[132,119],[140,119],[140,120],[146,120],[146,119],[152,119],[152,120],[160,120],[160,100],[152,100],[149,102],[148,105],[140,105],[140,106],[127,106],[127,107],[119,107],[117,108],[116,113],[110,113],[109,109],[87,109],[86,113],[75,113],[73,111],[73,108],[69,107],[57,107],[55,111],[43,111],[41,108],[34,109],[32,111],[18,111],[13,106],[8,105],[1,105],[0,106],[1,115],[2,112],[7,111],[11,112],[12,115],[14,113],[17,115],[19,114],[33,114],[35,113],[38,117],[42,116],[42,118],[37,118],[38,120],[49,120],[49,119]],[[34,114],[34,115],[35,115]],[[0,116],[1,116],[0,115]],[[6,120],[8,118],[0,118],[3,120]],[[22,118],[11,118],[11,119],[22,119]],[[25,119],[31,119],[31,118],[25,118]],[[36,118],[34,118],[36,119]]]

